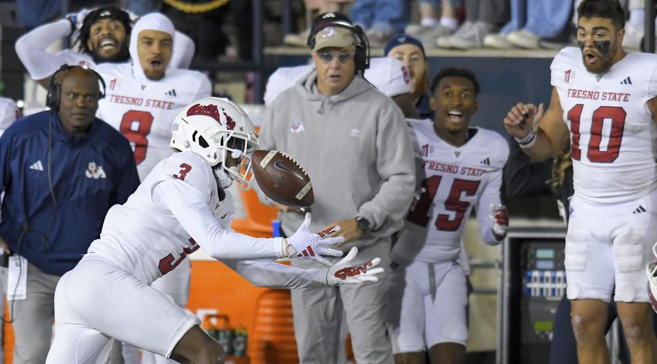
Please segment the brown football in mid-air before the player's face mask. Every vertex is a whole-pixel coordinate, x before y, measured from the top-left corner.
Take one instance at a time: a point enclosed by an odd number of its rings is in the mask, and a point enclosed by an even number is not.
[[[251,156],[251,166],[262,192],[276,203],[309,207],[315,202],[310,177],[289,155],[259,149]]]

